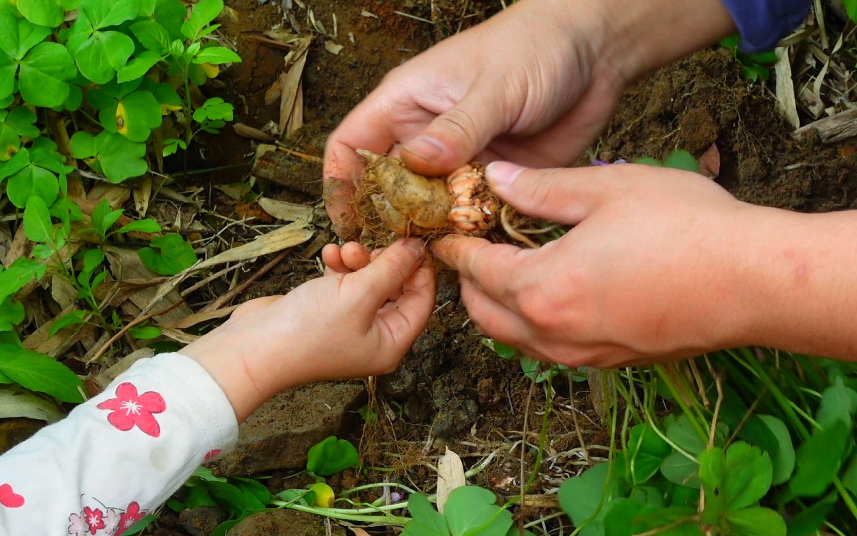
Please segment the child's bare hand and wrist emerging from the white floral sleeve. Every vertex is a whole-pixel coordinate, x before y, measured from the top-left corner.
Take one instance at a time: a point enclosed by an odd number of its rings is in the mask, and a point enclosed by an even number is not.
[[[240,421],[294,385],[395,370],[434,309],[434,269],[419,240],[375,255],[323,251],[326,277],[242,304],[183,350],[212,374]]]

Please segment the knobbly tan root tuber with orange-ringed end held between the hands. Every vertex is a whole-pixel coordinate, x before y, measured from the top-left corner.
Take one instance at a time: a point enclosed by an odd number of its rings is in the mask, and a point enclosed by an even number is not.
[[[367,165],[352,203],[363,232],[437,237],[452,232],[482,236],[500,220],[500,201],[471,163],[447,178],[423,177],[402,161],[359,149]]]

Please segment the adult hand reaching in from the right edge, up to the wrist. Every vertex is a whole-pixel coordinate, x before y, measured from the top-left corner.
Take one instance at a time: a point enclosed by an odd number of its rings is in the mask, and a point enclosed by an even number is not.
[[[752,339],[746,300],[761,286],[741,256],[762,242],[752,228],[770,209],[660,167],[496,162],[486,171],[523,214],[574,227],[530,250],[459,236],[434,244],[460,273],[462,299],[484,334],[531,358],[605,368]]]

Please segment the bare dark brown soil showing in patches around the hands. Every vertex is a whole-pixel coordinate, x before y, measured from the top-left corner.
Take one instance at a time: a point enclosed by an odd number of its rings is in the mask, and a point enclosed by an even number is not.
[[[429,18],[428,3],[303,2],[325,27],[333,24],[336,15],[339,38],[335,40],[345,45],[339,55],[333,55],[325,49],[323,37],[315,39],[304,70],[304,126],[294,139],[285,141],[301,153],[319,157],[331,130],[390,69],[457,29],[433,27],[393,13],[404,10]],[[284,52],[244,38],[288,22],[283,21],[279,0],[227,0],[227,4],[237,18],[224,21],[225,31],[235,40],[243,63],[226,71],[222,81],[207,87],[206,92],[236,103],[236,121],[261,128],[279,116],[279,106],[265,105],[264,94],[282,69]],[[490,9],[481,3],[470,4],[470,12],[476,16],[464,21],[464,28],[490,15]],[[377,18],[361,15],[363,11]],[[306,30],[306,11],[297,9],[296,14]],[[348,37],[350,33],[354,43]],[[823,145],[813,136],[794,140],[791,131],[776,112],[776,100],[769,88],[742,81],[740,68],[732,57],[726,51],[712,49],[674,63],[630,87],[588,156],[608,161],[662,158],[669,150],[680,148],[698,157],[716,143],[721,155],[717,182],[746,202],[806,212],[854,208],[857,147],[847,142]],[[231,129],[203,142],[207,145],[207,158],[218,166],[248,164],[255,151],[251,142],[236,136]],[[235,183],[247,172],[249,167],[233,168],[214,173],[210,180],[214,184]],[[296,182],[321,182],[321,165],[295,160],[291,172]],[[267,196],[285,201],[320,201],[307,189],[270,184],[261,187]],[[219,194],[208,203],[225,203],[239,213],[247,210]],[[251,286],[242,299],[288,292],[318,275],[311,260],[291,258]],[[457,444],[458,449],[463,449],[459,454],[467,466],[501,442],[519,440],[530,393],[530,380],[521,374],[518,364],[498,358],[482,345],[481,334],[468,321],[460,303],[454,274],[441,274],[439,289],[438,310],[402,367],[369,384],[370,409],[377,412],[375,424],[368,423],[363,430],[357,428],[351,436],[360,443],[367,465],[392,467],[394,473],[387,473],[387,478],[409,479],[411,485],[425,490],[431,488],[435,478],[426,464],[434,463],[433,456],[443,453],[445,443],[466,441]],[[567,411],[569,384],[558,377],[554,387],[560,400],[565,401],[553,408],[554,417],[548,425],[548,455],[578,446],[578,434],[572,424],[574,412]],[[596,412],[586,400],[585,384],[575,384],[574,388],[584,391],[577,400],[584,410],[580,419],[587,421],[582,426],[584,441],[606,444],[607,434],[596,425]],[[543,405],[542,390],[533,389],[528,416],[530,443],[537,440]],[[475,484],[499,493],[517,490],[519,451],[506,450],[476,477]],[[529,469],[533,456],[525,455],[524,461]],[[281,487],[297,485],[288,478],[293,473],[273,473],[269,482]],[[559,485],[559,480],[550,481],[550,470],[544,474],[548,479],[536,480],[531,492]],[[561,479],[559,475],[557,479]],[[371,473],[369,477],[351,475],[348,485],[383,478],[384,475],[373,477]],[[169,514],[159,521],[154,533],[185,534]]]

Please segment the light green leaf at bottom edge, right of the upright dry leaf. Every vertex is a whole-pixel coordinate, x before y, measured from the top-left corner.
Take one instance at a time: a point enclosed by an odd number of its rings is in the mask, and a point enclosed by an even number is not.
[[[506,536],[512,527],[512,512],[500,509],[494,493],[470,485],[450,492],[443,515],[452,536]]]

